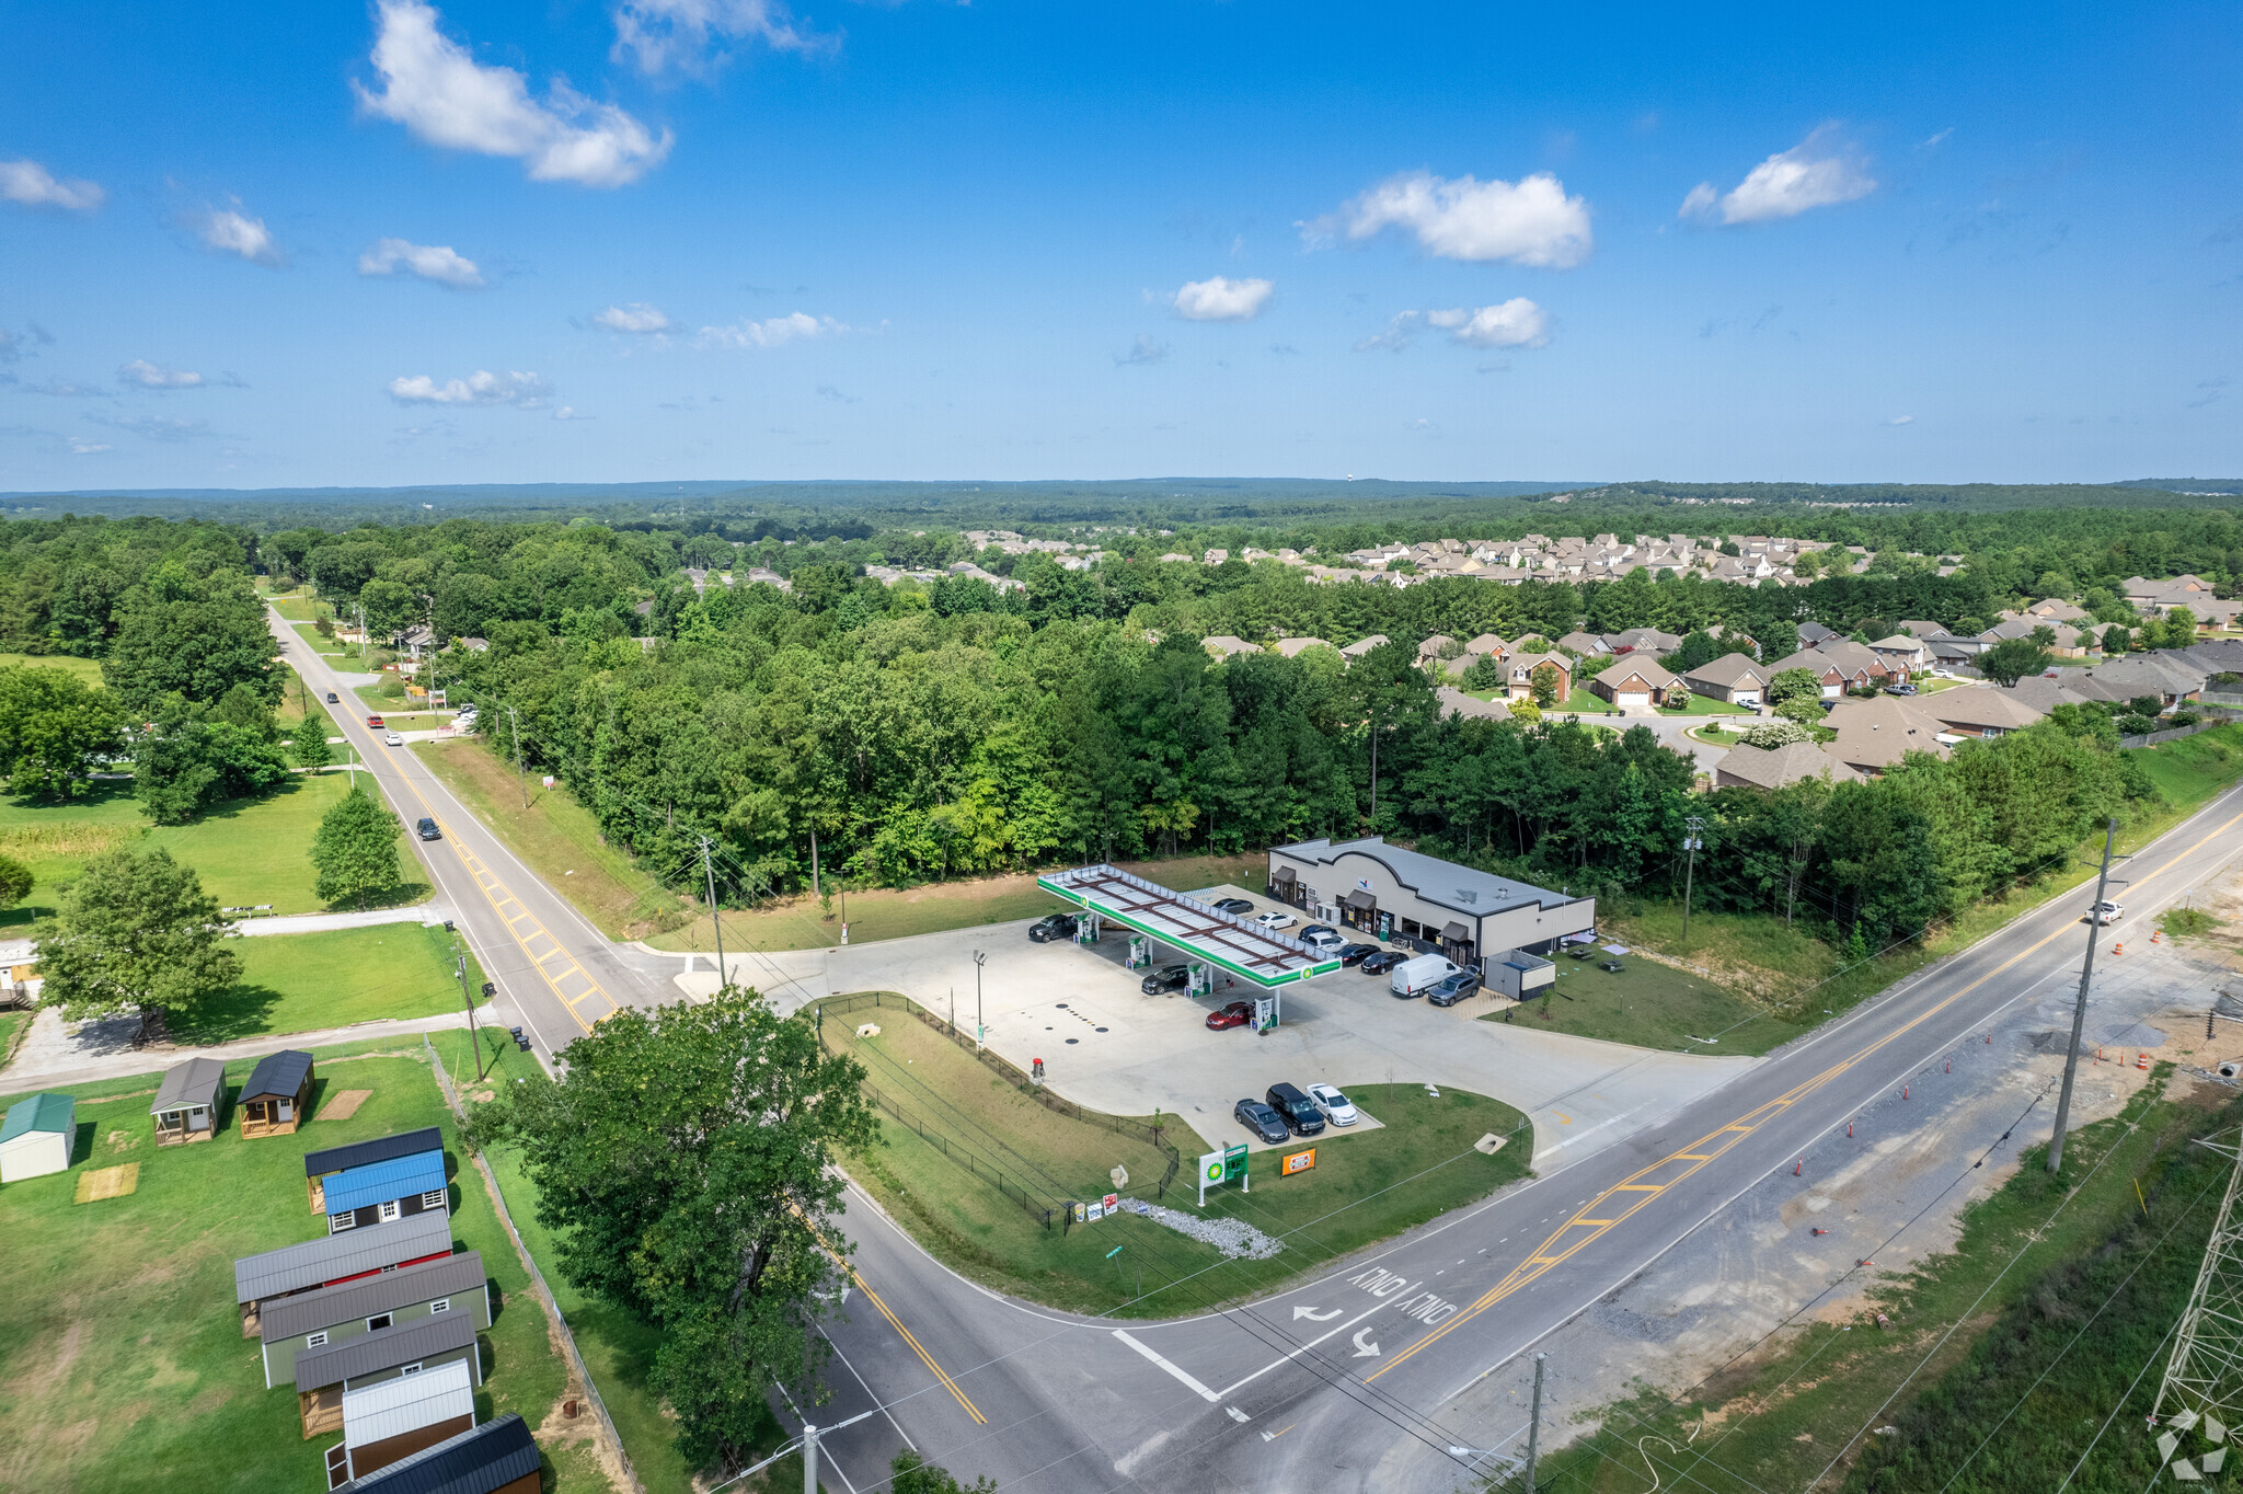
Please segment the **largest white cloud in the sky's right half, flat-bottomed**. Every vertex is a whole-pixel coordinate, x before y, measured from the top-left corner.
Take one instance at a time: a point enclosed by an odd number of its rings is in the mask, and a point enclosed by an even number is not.
[[[1397,227],[1444,260],[1510,260],[1572,269],[1588,258],[1588,202],[1568,197],[1548,173],[1512,182],[1444,179],[1409,170],[1344,204],[1335,218],[1303,224],[1310,242],[1335,229],[1353,240]]]

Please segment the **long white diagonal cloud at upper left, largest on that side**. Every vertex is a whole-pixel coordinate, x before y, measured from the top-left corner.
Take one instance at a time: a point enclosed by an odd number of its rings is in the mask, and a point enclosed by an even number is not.
[[[536,101],[523,74],[480,67],[467,47],[437,31],[435,7],[424,0],[381,0],[372,63],[381,92],[352,83],[370,114],[395,119],[433,146],[527,162],[534,182],[624,186],[671,153],[668,130],[655,137],[624,110],[592,103],[559,79]]]

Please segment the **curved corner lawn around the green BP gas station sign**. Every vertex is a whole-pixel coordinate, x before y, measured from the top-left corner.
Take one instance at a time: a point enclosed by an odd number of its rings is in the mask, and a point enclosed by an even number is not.
[[[839,1027],[828,1021],[828,1041],[861,1052],[873,1083],[911,1113],[913,1124],[881,1113],[884,1144],[848,1158],[850,1175],[953,1270],[1054,1308],[1171,1317],[1256,1297],[1299,1272],[1485,1198],[1523,1175],[1534,1151],[1525,1117],[1501,1101],[1462,1090],[1433,1099],[1409,1083],[1348,1083],[1350,1099],[1382,1128],[1326,1131],[1303,1142],[1317,1149],[1317,1166],[1292,1178],[1276,1173],[1274,1153],[1256,1153],[1252,1191],[1225,1187],[1207,1196],[1209,1216],[1240,1218],[1285,1243],[1270,1261],[1229,1261],[1126,1211],[1074,1229],[1054,1220],[1045,1229],[1039,1216],[980,1175],[1000,1169],[1007,1180],[1036,1180],[1039,1196],[1097,1198],[1113,1191],[1106,1169],[1122,1162],[1130,1178],[1122,1191],[1153,1200],[1160,1173],[1130,1162],[1151,1149],[1045,1110],[904,1012],[881,1023],[879,1039],[848,1036],[866,1016],[850,1012]],[[924,1126],[924,1137],[917,1126]],[[1471,1144],[1487,1133],[1514,1140],[1492,1158],[1480,1155]],[[938,1137],[949,1142],[951,1155]],[[1173,1122],[1169,1140],[1184,1153],[1184,1171],[1160,1202],[1193,1211],[1191,1164],[1204,1142]],[[976,1171],[967,1171],[958,1155],[973,1155]],[[1144,1166],[1155,1166],[1151,1155]],[[1115,1247],[1122,1254],[1108,1261]]]

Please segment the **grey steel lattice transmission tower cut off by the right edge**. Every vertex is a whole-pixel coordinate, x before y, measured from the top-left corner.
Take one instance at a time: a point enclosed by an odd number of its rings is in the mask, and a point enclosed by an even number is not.
[[[2196,1483],[2221,1472],[2227,1460],[2227,1429],[2243,1424],[2243,1216],[2236,1191],[2243,1184],[2243,1135],[2203,1146],[2236,1158],[2227,1173],[2221,1216],[2205,1241],[2205,1263],[2196,1290],[2173,1332],[2173,1357],[2158,1384],[2149,1429],[2158,1438],[2158,1460],[2178,1483]],[[2189,1433],[2198,1433],[2191,1438]],[[2189,1451],[2189,1449],[2200,1451]]]

